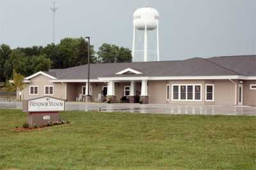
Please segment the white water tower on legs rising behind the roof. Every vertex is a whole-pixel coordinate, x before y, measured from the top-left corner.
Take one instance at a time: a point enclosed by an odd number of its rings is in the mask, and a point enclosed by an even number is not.
[[[156,53],[157,61],[159,61],[159,29],[158,29],[158,20],[159,13],[154,8],[143,7],[134,11],[133,13],[133,42],[132,42],[132,58],[134,60],[135,52],[143,51],[144,61],[148,61],[148,52]],[[144,31],[144,44],[143,50],[136,49],[136,43],[138,38],[136,38],[136,30]],[[156,49],[148,50],[148,33],[149,31],[156,30],[156,41],[153,43],[156,46]],[[140,42],[138,42],[140,43]]]

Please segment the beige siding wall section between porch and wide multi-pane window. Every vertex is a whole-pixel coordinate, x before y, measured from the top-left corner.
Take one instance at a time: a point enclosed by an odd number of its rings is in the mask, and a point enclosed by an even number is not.
[[[166,85],[168,81],[148,81],[148,103],[168,103]]]

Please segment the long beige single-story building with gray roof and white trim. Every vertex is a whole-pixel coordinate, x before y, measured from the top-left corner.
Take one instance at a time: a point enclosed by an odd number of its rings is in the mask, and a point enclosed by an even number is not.
[[[89,89],[93,102],[256,106],[256,55],[90,64],[87,81],[88,65],[40,71],[25,78],[22,99],[84,101]]]

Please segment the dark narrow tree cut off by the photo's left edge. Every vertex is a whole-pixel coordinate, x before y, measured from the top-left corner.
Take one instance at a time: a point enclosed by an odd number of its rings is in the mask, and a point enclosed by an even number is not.
[[[4,76],[4,64],[6,60],[10,58],[11,48],[8,45],[0,46],[0,82],[6,82],[6,77]],[[5,85],[5,83],[4,83]]]

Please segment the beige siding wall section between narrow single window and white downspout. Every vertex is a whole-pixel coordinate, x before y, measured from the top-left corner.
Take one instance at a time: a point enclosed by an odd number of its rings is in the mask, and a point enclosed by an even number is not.
[[[236,87],[235,84],[232,83],[230,80],[215,80],[215,104],[216,105],[235,105],[235,96],[236,96],[235,87]],[[238,83],[237,83],[237,88],[238,88]],[[238,96],[238,92],[237,92],[237,96]]]

